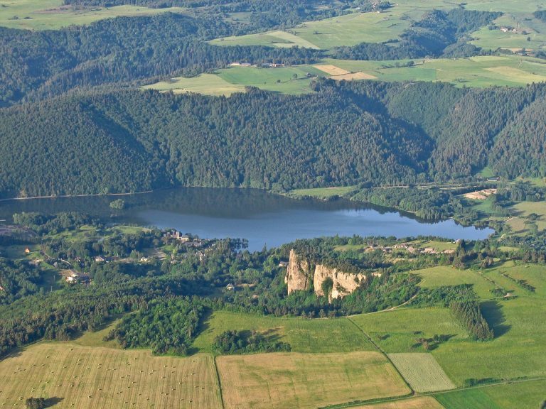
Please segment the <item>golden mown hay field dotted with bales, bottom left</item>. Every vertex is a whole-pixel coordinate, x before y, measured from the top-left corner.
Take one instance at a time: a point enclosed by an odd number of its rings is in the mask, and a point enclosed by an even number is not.
[[[221,408],[213,357],[151,356],[40,342],[0,361],[0,406],[55,399],[55,408]]]

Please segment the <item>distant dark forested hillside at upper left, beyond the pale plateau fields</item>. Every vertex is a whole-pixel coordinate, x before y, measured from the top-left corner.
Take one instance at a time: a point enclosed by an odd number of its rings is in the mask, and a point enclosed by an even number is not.
[[[233,61],[304,63],[304,48],[216,47],[205,40],[237,33],[215,16],[175,13],[120,17],[86,27],[31,32],[0,27],[0,107],[70,89],[147,77],[193,75]]]

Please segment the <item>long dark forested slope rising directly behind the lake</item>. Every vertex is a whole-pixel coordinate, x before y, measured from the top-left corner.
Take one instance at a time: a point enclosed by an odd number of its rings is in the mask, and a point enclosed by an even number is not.
[[[545,173],[544,85],[321,80],[314,89],[230,98],[119,91],[3,109],[0,192],[405,185],[471,178],[486,165],[508,178]]]

